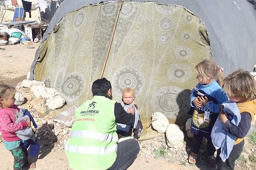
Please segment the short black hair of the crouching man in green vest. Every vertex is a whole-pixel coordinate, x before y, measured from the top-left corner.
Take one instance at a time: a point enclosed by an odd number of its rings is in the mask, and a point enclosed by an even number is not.
[[[106,79],[97,79],[92,83],[92,95],[100,94],[100,93],[106,93],[111,89],[111,83]]]

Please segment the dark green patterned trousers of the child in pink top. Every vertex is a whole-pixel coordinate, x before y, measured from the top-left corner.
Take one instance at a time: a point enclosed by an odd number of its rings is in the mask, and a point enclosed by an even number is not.
[[[27,149],[24,148],[23,143],[19,147],[9,151],[11,151],[12,156],[14,158],[13,169],[22,170],[22,168],[28,164],[28,151]]]

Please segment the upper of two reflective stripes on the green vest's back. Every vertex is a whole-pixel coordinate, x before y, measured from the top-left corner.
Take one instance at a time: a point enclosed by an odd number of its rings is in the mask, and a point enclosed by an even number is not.
[[[94,132],[90,130],[72,130],[70,137],[84,137],[89,139],[96,139],[96,140],[102,140],[102,141],[113,141],[118,140],[117,135],[107,135],[100,132]]]

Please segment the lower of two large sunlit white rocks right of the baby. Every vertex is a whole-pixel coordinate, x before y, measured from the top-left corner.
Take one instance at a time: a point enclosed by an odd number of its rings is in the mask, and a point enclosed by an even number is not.
[[[175,149],[181,149],[183,147],[184,134],[176,124],[169,124],[165,135],[168,147]]]

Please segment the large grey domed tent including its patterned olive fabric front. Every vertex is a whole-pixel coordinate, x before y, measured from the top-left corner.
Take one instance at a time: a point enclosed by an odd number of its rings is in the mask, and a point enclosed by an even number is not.
[[[123,88],[134,88],[145,129],[141,139],[156,137],[147,128],[152,113],[178,125],[187,120],[197,63],[213,58],[226,73],[254,69],[255,28],[255,10],[245,0],[64,0],[30,79],[57,89],[66,107],[91,99],[92,82],[100,77],[111,81],[117,101]]]

